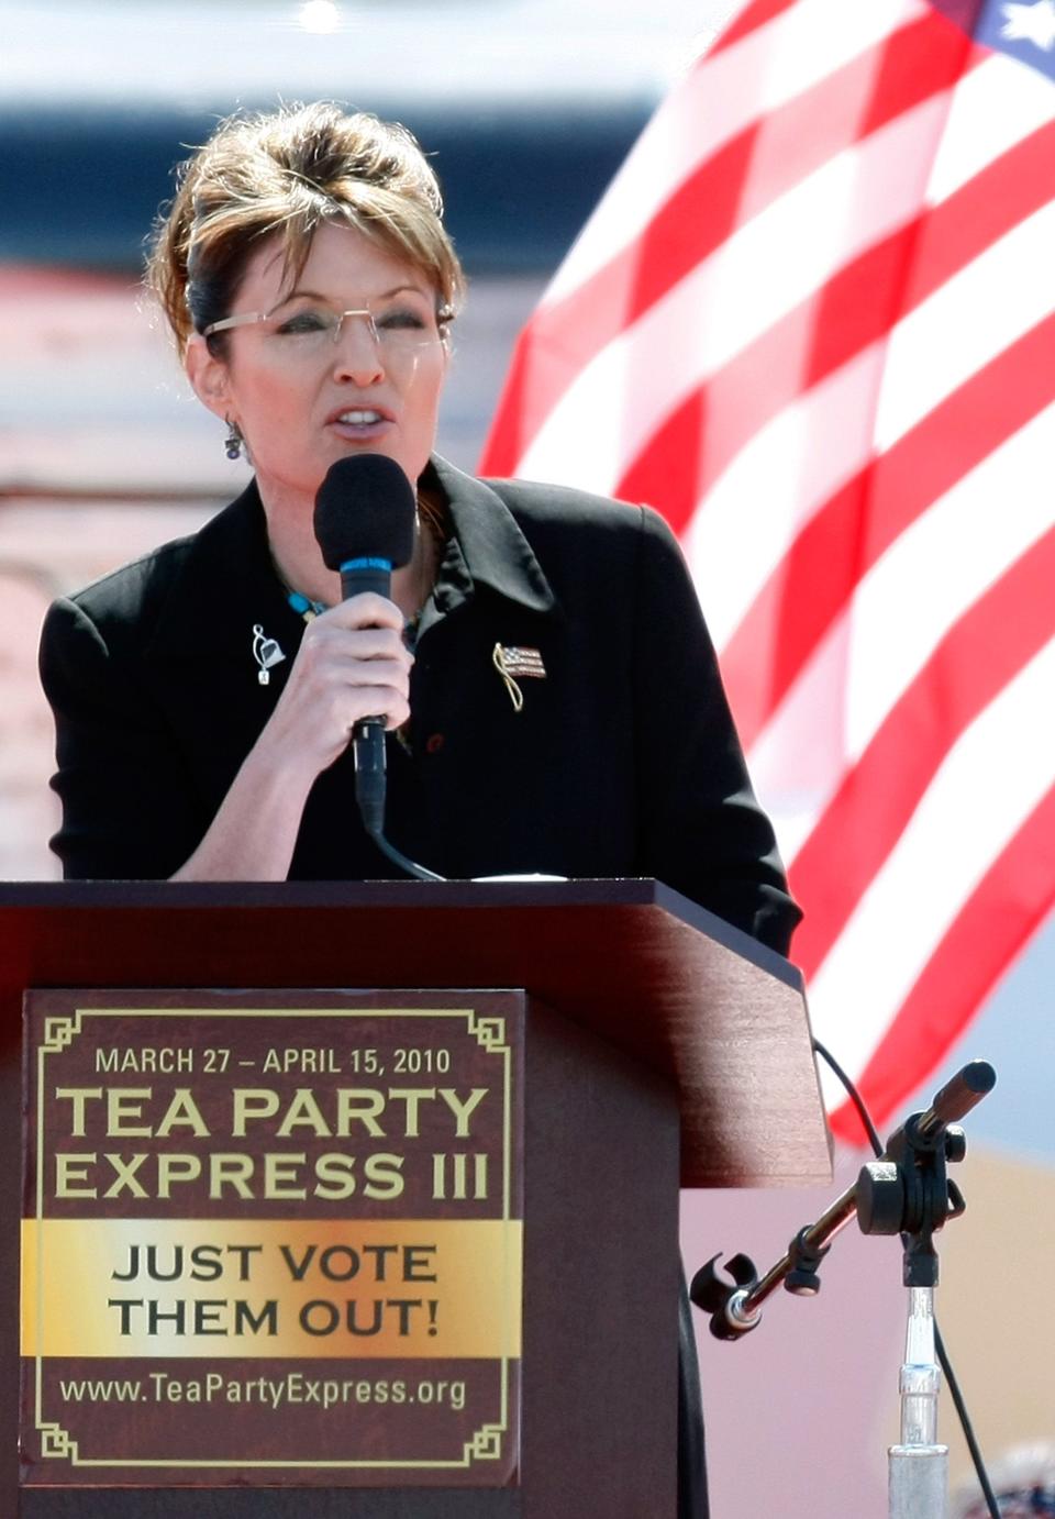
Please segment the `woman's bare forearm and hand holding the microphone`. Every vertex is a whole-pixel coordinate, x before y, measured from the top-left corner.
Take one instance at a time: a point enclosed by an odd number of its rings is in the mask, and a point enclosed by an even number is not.
[[[175,881],[284,881],[316,776],[363,717],[410,715],[402,612],[366,592],[308,624],[285,690],[246,755],[209,831]]]

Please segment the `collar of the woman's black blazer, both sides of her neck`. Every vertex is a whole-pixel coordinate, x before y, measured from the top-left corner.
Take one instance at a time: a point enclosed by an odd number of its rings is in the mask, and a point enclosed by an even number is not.
[[[439,456],[430,460],[422,480],[439,483],[454,529],[430,621],[469,600],[478,585],[533,612],[554,611],[542,567],[496,491]],[[284,647],[296,646],[304,633],[272,565],[255,480],[187,545],[146,652],[152,658],[214,653],[217,621],[238,627],[260,623]]]

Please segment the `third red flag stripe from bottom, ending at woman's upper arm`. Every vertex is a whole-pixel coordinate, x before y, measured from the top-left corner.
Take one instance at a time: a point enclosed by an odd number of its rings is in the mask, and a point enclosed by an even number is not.
[[[803,527],[721,653],[745,747],[880,554],[1055,399],[1053,342],[1055,316],[1049,316],[861,469]]]

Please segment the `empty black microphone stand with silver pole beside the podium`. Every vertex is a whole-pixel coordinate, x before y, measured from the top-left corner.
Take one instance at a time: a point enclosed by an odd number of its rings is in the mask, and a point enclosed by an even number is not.
[[[689,1297],[710,1314],[718,1340],[739,1340],[761,1323],[762,1303],[777,1287],[801,1297],[820,1291],[818,1268],[835,1236],[856,1217],[867,1235],[902,1235],[902,1281],[908,1288],[905,1361],[900,1370],[900,1443],[888,1449],[890,1519],[944,1519],[949,1448],[938,1445],[941,1372],[935,1360],[934,1288],[938,1255],[934,1235],[962,1214],[962,1192],[946,1174],[967,1153],[964,1118],[993,1091],[996,1072],[972,1060],[934,1098],[891,1135],[882,1157],[861,1168],[858,1180],[814,1223],[800,1229],[788,1252],[759,1279],[745,1255],[726,1265],[713,1256],[692,1279]]]

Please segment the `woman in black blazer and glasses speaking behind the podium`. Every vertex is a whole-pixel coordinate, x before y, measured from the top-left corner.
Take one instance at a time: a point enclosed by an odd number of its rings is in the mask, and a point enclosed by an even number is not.
[[[798,913],[662,521],[431,456],[461,272],[413,138],[328,105],[225,123],[149,283],[255,480],[49,615],[65,875],[392,875],[349,804],[373,714],[386,831],[440,875],[656,875],[786,951]],[[364,451],[417,489],[414,553],[390,600],[342,602],[313,504]]]

